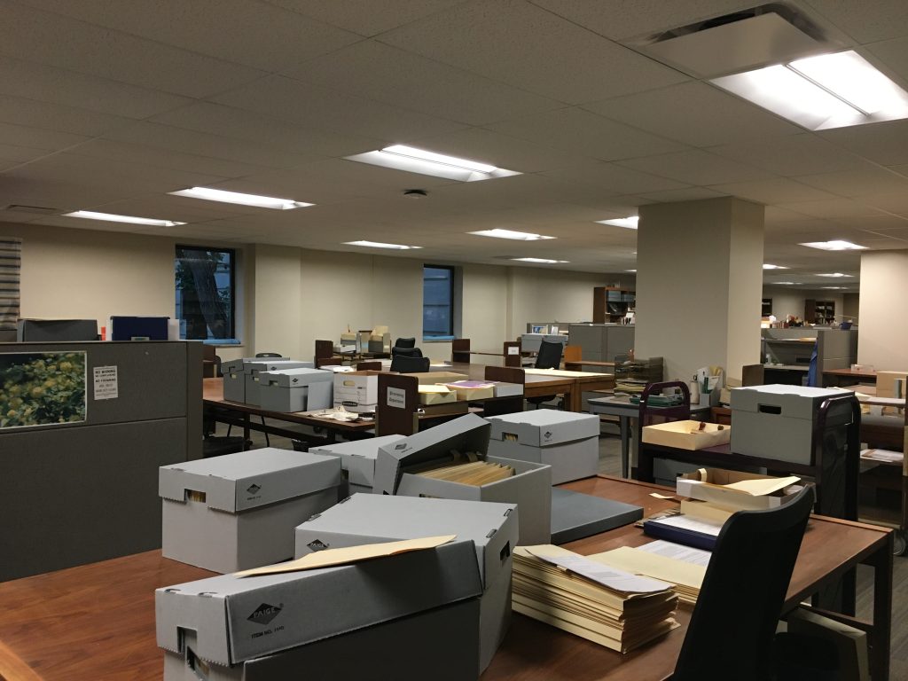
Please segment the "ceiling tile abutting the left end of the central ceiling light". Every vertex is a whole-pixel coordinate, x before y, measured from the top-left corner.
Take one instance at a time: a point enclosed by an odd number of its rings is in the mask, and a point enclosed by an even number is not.
[[[279,149],[288,152],[312,153],[320,156],[350,156],[380,148],[380,139],[356,133],[334,133],[311,127],[302,127],[278,120],[269,114],[256,114],[231,106],[200,102],[183,109],[155,116],[155,123],[199,133],[210,133],[256,144],[267,145],[265,154]],[[246,144],[249,149],[253,144]],[[252,160],[251,160],[252,162]],[[262,163],[254,161],[252,163]],[[275,163],[278,163],[275,161]],[[281,162],[283,165],[284,163]]]

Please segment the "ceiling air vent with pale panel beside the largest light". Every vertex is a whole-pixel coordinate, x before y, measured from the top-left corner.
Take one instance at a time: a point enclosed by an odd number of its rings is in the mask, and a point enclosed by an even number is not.
[[[649,35],[632,46],[698,78],[715,78],[837,45],[794,7],[772,3]]]

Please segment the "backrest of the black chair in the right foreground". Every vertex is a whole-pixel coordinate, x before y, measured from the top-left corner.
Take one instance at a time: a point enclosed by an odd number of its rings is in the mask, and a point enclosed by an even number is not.
[[[725,522],[687,627],[672,681],[765,681],[788,582],[814,491],[778,508],[739,511]]]

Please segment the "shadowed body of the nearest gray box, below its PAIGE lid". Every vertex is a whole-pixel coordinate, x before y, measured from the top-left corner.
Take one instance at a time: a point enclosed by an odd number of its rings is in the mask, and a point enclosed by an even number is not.
[[[323,638],[239,665],[205,662],[195,655],[198,638],[184,634],[184,653],[164,651],[164,681],[276,681],[307,679],[357,681],[468,681],[479,665],[479,599],[400,617],[390,622]],[[401,655],[406,641],[406,655]],[[454,654],[456,651],[456,654]]]

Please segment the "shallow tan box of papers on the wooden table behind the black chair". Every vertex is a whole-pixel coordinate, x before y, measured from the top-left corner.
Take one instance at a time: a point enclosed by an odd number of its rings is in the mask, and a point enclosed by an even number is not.
[[[727,487],[745,480],[763,480],[766,489],[772,491],[753,494],[744,489]],[[735,510],[777,508],[795,498],[803,488],[804,483],[794,477],[777,478],[725,469],[699,469],[692,473],[683,473],[676,480],[678,496],[709,501],[717,506]]]

